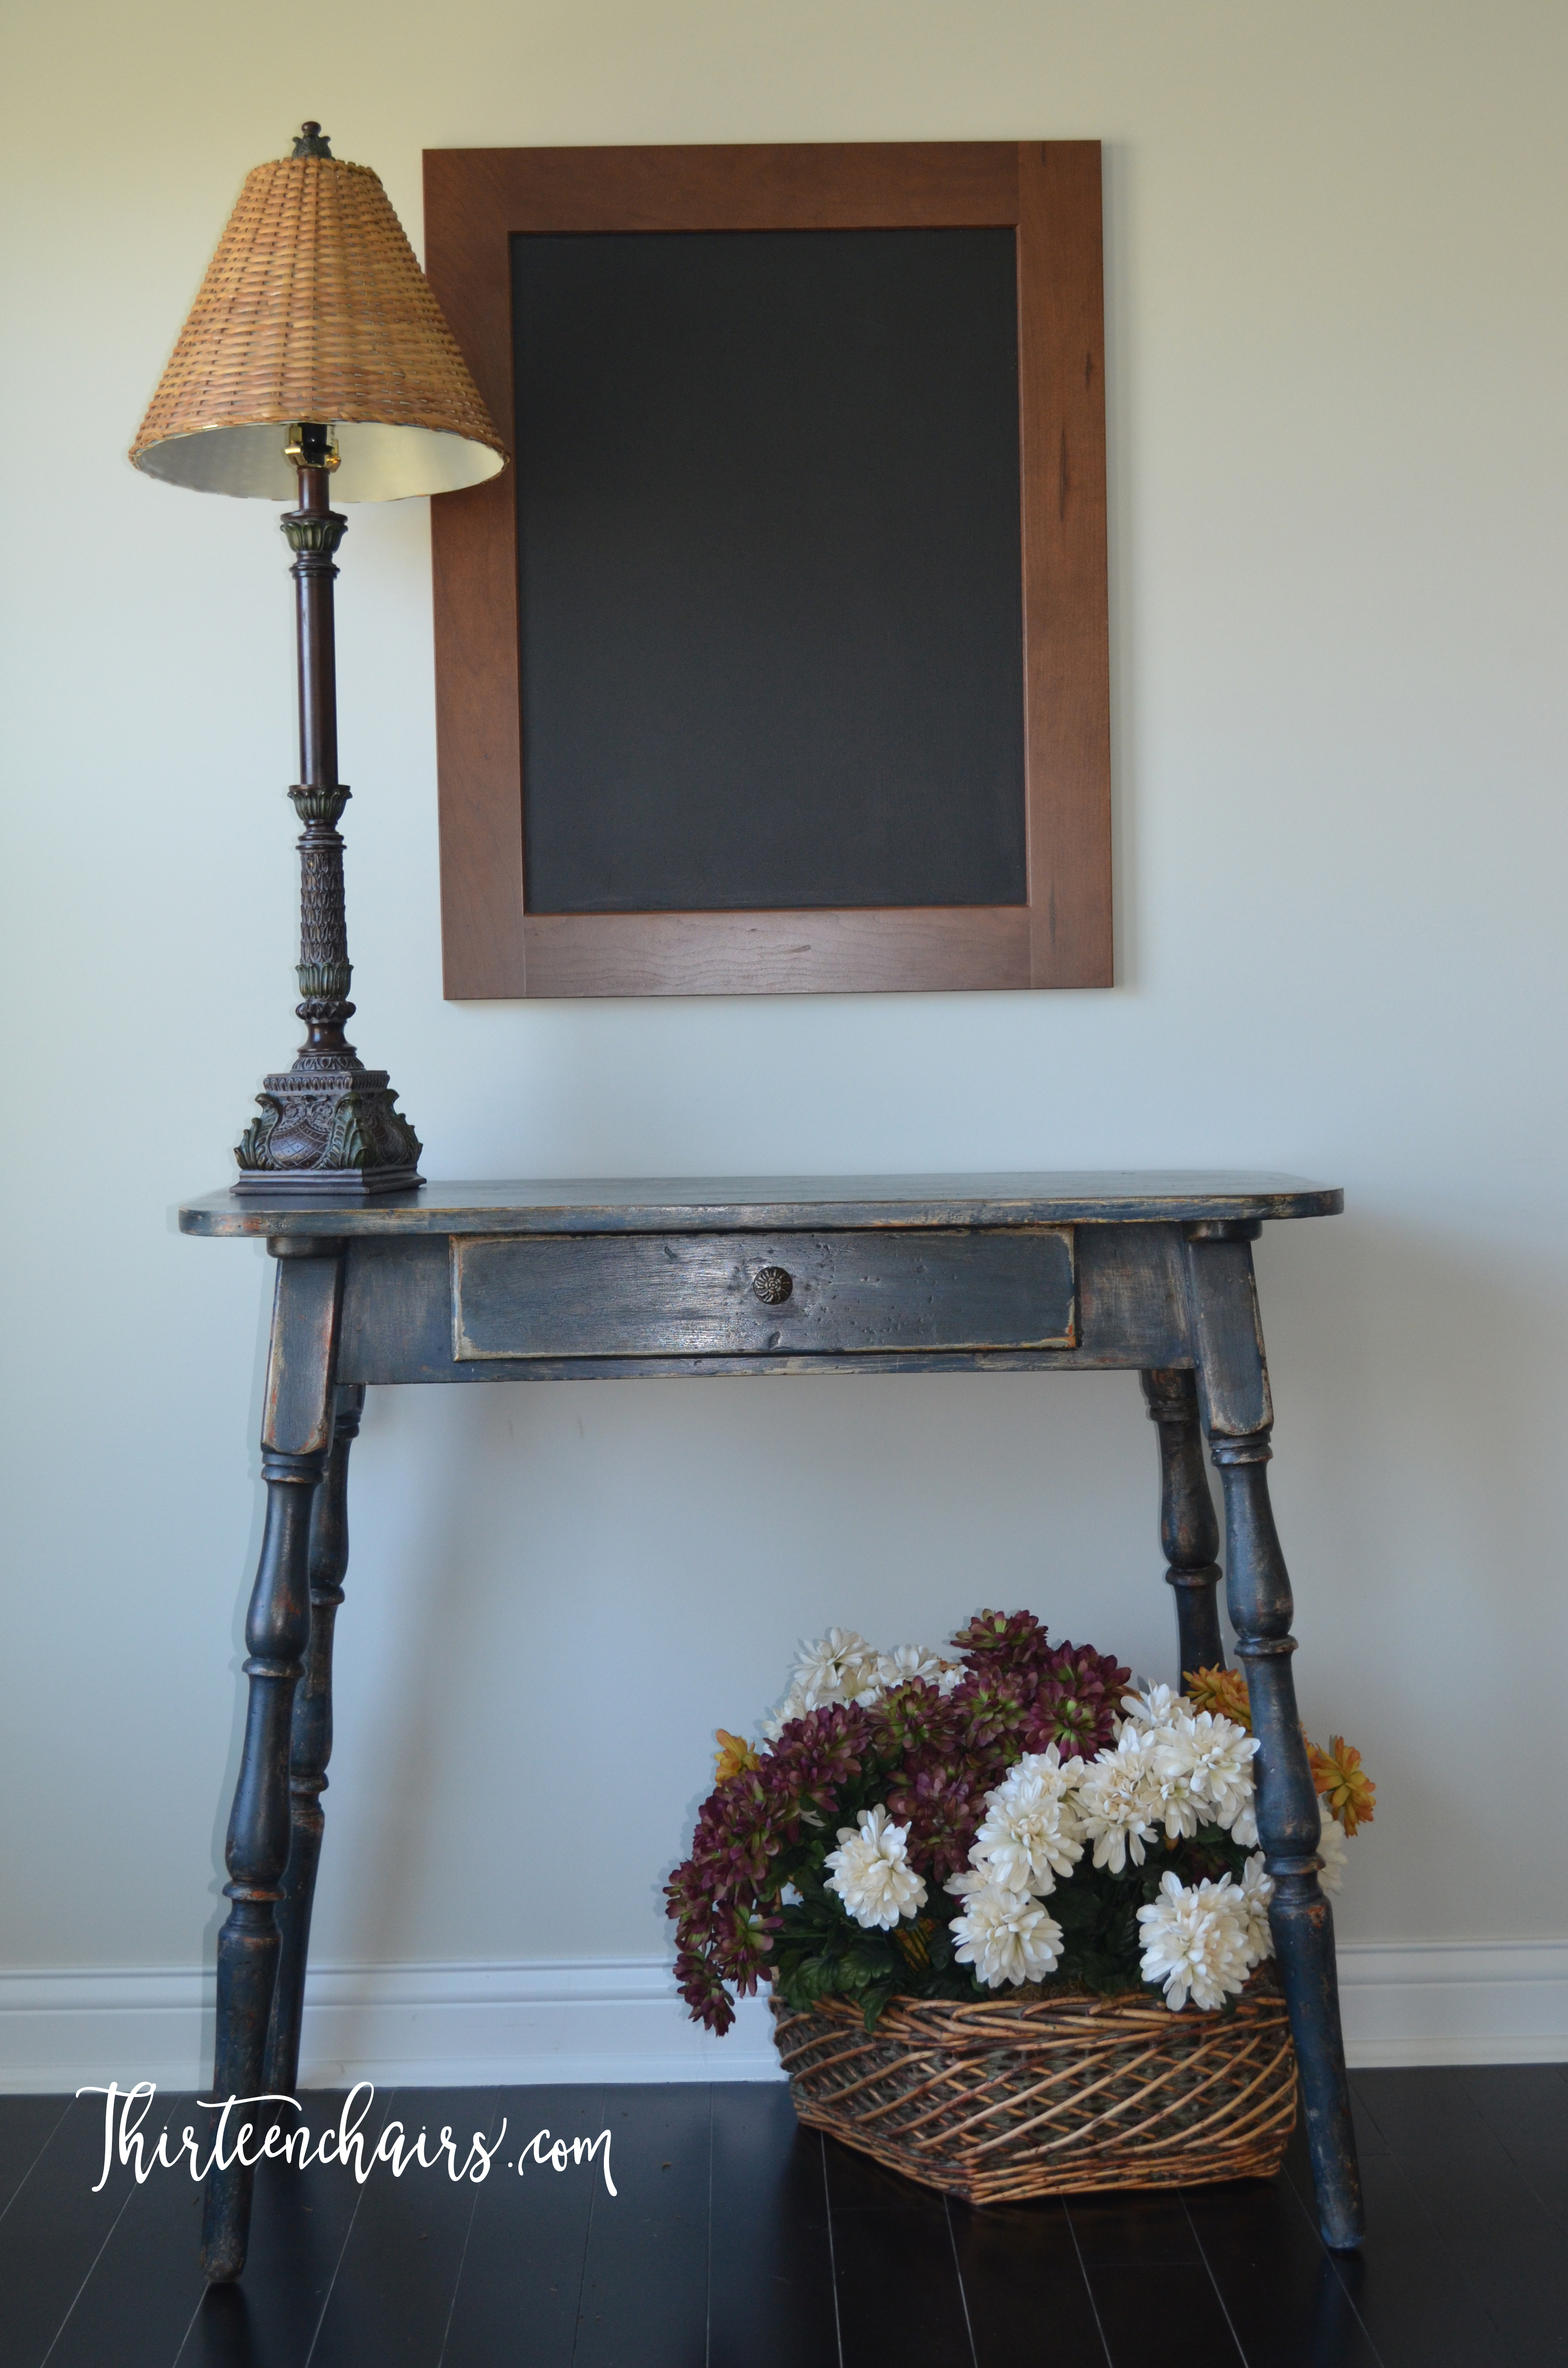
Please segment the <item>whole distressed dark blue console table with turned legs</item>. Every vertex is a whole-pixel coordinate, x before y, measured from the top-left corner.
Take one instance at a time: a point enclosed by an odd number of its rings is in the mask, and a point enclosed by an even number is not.
[[[1343,1193],[1272,1175],[746,1177],[429,1184],[384,1198],[208,1193],[187,1234],[277,1260],[246,1622],[249,1710],[218,1935],[213,2093],[294,2091],[332,1750],[348,1447],[365,1390],[642,1373],[931,1373],[1123,1366],[1161,1440],[1180,1660],[1215,1662],[1217,1523],[1246,1667],[1258,1830],[1324,2240],[1360,2242],[1317,1795],[1296,1717],[1291,1584],[1267,1494],[1270,1383],[1253,1288],[1267,1220]],[[204,2257],[244,2269],[251,2174],[208,2176]]]

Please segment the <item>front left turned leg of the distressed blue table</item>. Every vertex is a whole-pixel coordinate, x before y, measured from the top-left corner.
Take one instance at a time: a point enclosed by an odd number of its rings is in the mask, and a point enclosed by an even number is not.
[[[249,1700],[225,1852],[230,1913],[218,1932],[218,2103],[265,2091],[279,1956],[275,1904],[289,1859],[289,1726],[310,1641],[310,1508],[332,1440],[343,1283],[336,1241],[289,1238],[268,1248],[279,1260],[261,1430],[268,1520],[244,1629]],[[246,2119],[263,2124],[265,2110],[230,2115],[230,2162],[216,2164],[206,2181],[201,2266],[211,2283],[244,2269],[253,2174],[232,2160],[232,2145]]]

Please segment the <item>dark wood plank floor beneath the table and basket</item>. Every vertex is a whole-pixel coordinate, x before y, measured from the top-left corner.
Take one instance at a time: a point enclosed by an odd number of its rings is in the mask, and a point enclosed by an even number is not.
[[[1371,2235],[1329,2257],[1300,2138],[1265,2186],[969,2212],[801,2131],[782,2086],[410,2089],[445,2171],[265,2167],[201,2292],[187,2174],[102,2162],[97,2098],[0,2098],[2,2368],[1563,2368],[1568,2067],[1352,2077]],[[313,2091],[322,2129],[339,2100]],[[161,2098],[178,2134],[185,2098]],[[512,2164],[611,2129],[597,2164]]]

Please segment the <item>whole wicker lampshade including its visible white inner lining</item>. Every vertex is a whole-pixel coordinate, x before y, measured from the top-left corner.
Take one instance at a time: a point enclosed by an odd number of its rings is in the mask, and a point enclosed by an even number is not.
[[[289,502],[296,422],[336,431],[339,502],[455,493],[507,464],[379,178],[324,154],[246,175],[130,459]]]

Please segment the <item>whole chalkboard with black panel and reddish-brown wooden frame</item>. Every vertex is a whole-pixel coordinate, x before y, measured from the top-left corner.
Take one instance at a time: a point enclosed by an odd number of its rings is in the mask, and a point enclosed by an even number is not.
[[[1111,985],[1087,140],[433,149],[445,992]]]

